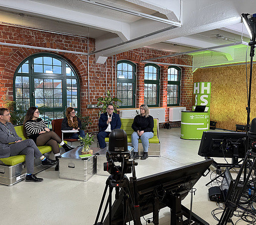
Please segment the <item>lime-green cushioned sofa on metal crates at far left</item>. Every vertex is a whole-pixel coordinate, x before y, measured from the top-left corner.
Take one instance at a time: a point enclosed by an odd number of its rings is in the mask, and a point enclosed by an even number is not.
[[[23,134],[23,125],[14,126],[16,133],[25,140]],[[46,157],[50,157],[52,152],[51,146],[39,146],[40,152]],[[34,173],[38,173],[51,166],[42,166],[40,159],[34,160]],[[13,185],[25,178],[26,164],[25,155],[10,156],[8,158],[0,159],[0,184]]]

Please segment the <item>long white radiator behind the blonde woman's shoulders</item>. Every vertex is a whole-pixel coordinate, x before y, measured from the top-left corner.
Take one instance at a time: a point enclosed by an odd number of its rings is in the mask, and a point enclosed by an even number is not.
[[[139,110],[121,110],[119,115],[120,118],[134,118],[139,113]],[[149,114],[158,118],[159,123],[165,122],[165,109],[149,109]]]

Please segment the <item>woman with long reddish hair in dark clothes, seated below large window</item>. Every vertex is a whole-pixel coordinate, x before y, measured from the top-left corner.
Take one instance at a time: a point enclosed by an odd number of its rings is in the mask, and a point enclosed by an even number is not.
[[[74,108],[72,107],[66,109],[66,117],[62,121],[62,130],[77,130],[76,133],[64,133],[65,138],[78,139],[78,135],[85,137],[81,120],[75,115]]]

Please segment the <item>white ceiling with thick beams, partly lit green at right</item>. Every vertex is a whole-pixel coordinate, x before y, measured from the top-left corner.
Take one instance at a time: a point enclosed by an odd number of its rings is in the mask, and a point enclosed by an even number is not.
[[[0,0],[0,23],[95,38],[96,58],[104,63],[107,56],[139,47],[170,55],[249,42],[241,14],[255,13],[255,5],[255,0]],[[192,53],[193,65],[245,61],[246,48]]]

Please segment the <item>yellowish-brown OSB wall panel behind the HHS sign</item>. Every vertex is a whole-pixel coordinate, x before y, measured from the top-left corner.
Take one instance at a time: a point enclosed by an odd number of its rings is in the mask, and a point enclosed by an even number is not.
[[[250,63],[247,71],[249,89]],[[256,117],[256,68],[252,80],[251,121]],[[236,124],[247,123],[245,65],[197,69],[193,82],[211,82],[210,120],[217,121],[217,128],[236,130]]]

